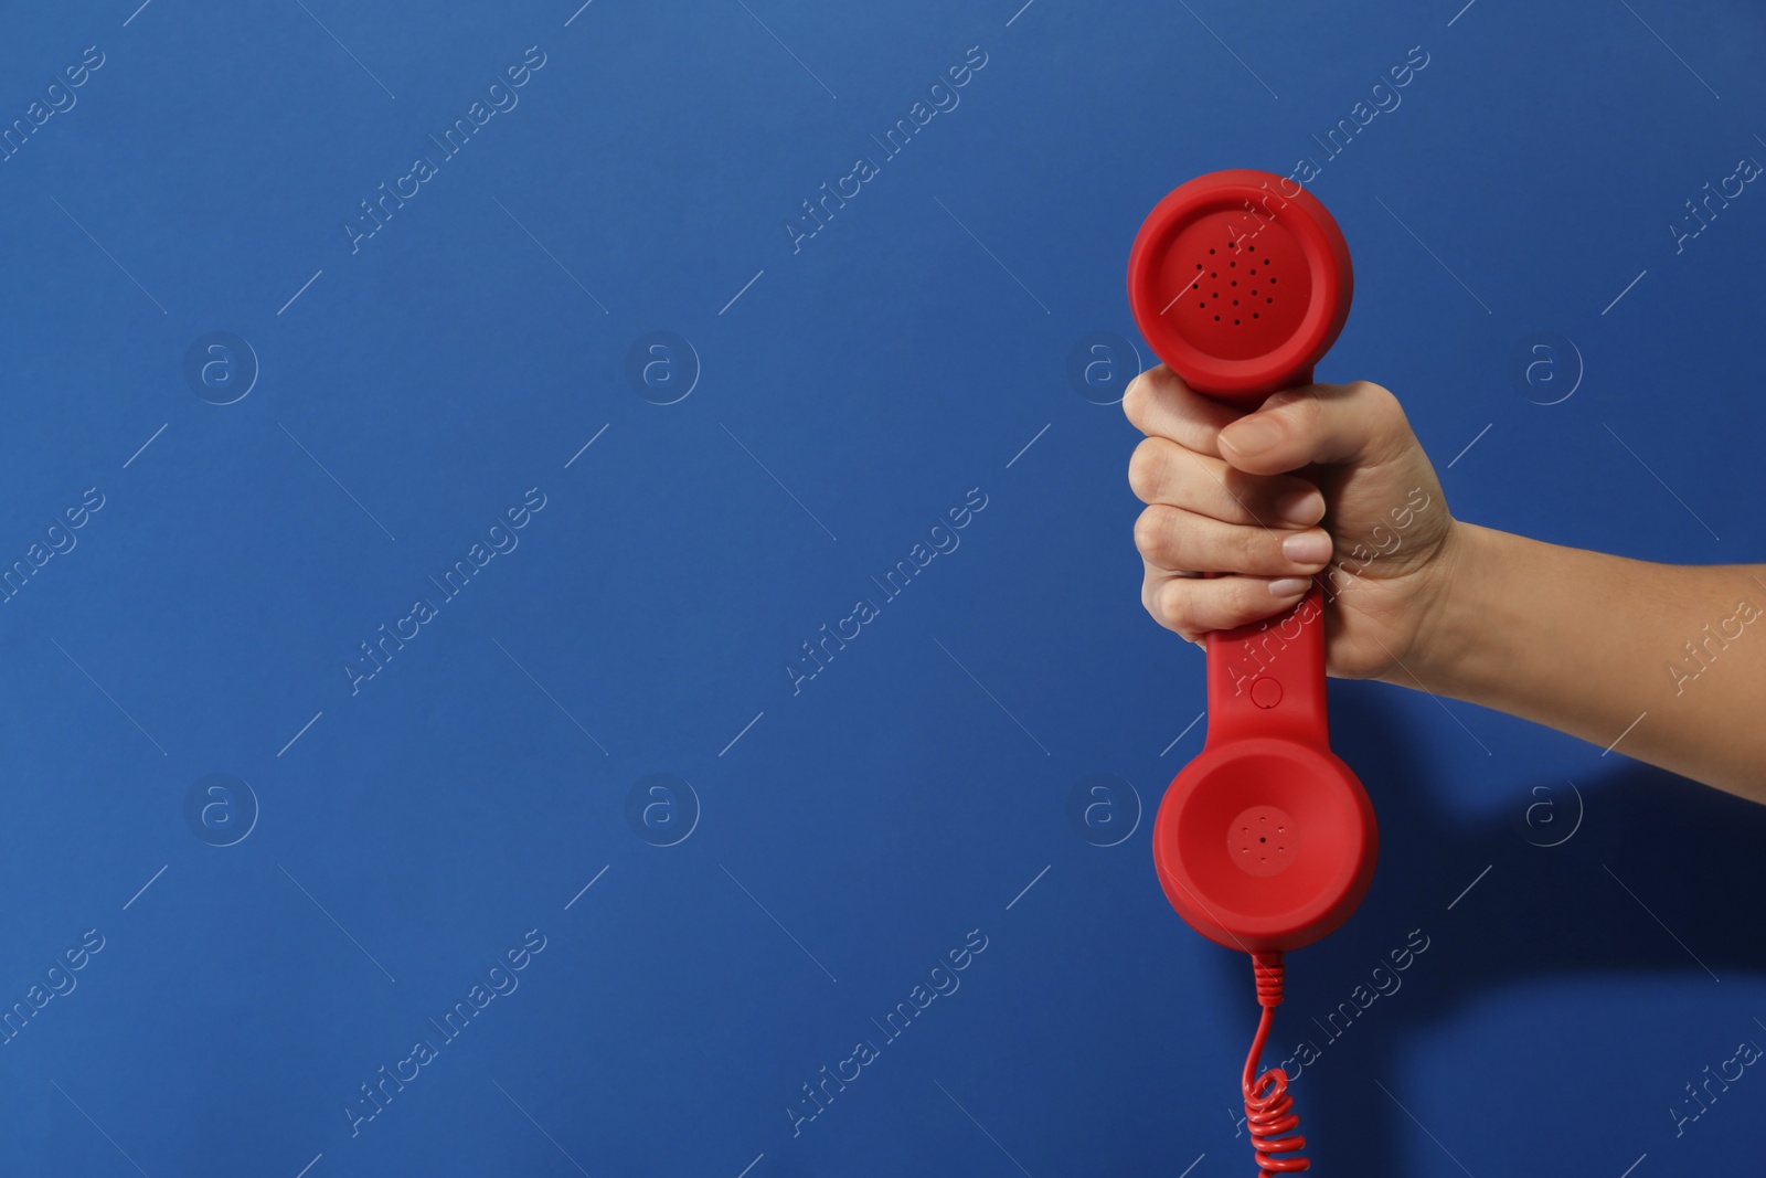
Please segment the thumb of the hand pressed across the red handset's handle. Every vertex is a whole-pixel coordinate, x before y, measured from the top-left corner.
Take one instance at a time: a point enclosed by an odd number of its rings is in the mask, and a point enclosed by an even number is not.
[[[1238,470],[1270,475],[1307,463],[1377,464],[1415,447],[1416,436],[1397,397],[1358,380],[1277,392],[1222,426],[1217,445]]]

